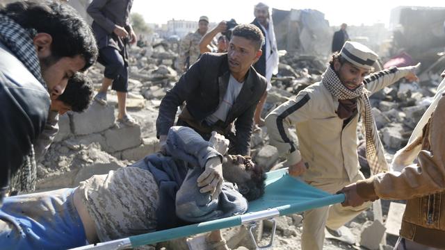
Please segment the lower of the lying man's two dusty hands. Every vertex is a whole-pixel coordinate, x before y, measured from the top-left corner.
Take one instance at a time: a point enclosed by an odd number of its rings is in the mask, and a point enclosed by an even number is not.
[[[218,198],[223,185],[223,164],[220,158],[207,160],[204,172],[197,178],[197,186],[201,193],[210,192],[211,199]]]

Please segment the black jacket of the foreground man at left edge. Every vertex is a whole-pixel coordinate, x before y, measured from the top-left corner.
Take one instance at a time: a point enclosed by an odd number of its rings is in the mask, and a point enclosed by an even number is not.
[[[49,94],[0,42],[0,200],[47,122]]]

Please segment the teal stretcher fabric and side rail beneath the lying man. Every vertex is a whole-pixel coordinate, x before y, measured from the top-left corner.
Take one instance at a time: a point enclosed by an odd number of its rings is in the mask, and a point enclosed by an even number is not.
[[[344,201],[344,194],[329,194],[307,185],[303,181],[287,174],[287,169],[269,172],[266,178],[266,191],[261,199],[249,203],[248,213],[255,213],[268,208],[277,208],[280,215],[300,213],[312,208],[320,208]],[[236,215],[210,222],[202,222],[188,226],[181,226],[164,231],[156,231],[143,235],[131,236],[132,247],[144,244],[154,244],[175,238],[186,237],[197,233],[204,233],[242,224],[245,215]],[[267,218],[262,218],[267,219]]]

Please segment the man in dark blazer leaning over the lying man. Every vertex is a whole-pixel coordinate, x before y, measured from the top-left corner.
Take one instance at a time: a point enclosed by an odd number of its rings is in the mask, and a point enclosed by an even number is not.
[[[156,121],[161,144],[186,101],[177,125],[194,128],[206,140],[217,131],[231,142],[229,153],[248,156],[254,111],[267,85],[252,67],[263,43],[257,26],[243,24],[232,31],[227,53],[204,53],[161,101]]]

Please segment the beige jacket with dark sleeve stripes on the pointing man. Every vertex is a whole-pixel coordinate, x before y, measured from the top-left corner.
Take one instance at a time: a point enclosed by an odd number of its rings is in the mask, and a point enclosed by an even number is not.
[[[409,72],[408,69],[385,69],[364,80],[369,94],[390,85]],[[298,93],[266,117],[270,144],[287,158],[288,165],[301,159],[308,165],[302,176],[311,183],[323,179],[349,178],[358,174],[357,122],[359,115],[343,128],[337,116],[339,101],[319,82]],[[360,110],[360,107],[358,107]],[[289,136],[288,129],[296,126],[298,142]]]

